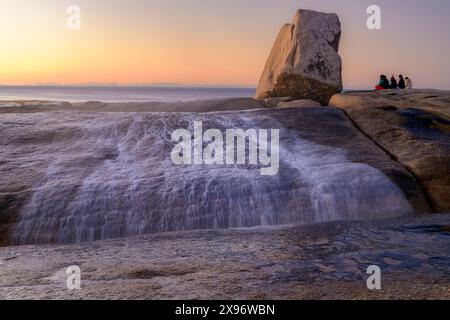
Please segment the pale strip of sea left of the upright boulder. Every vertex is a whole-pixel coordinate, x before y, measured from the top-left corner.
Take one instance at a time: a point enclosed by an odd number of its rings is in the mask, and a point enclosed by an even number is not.
[[[0,86],[0,101],[176,102],[252,97],[255,92],[246,87]]]

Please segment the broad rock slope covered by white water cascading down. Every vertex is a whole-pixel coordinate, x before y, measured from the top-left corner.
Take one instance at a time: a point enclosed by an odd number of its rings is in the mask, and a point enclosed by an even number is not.
[[[173,130],[280,130],[280,169],[171,161]],[[413,177],[331,108],[4,114],[4,242],[377,219],[427,211]],[[5,200],[6,199],[6,200]]]

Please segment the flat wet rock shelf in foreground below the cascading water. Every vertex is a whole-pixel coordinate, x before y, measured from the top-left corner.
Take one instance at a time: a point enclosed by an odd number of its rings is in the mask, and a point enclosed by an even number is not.
[[[450,215],[0,248],[3,299],[449,299]],[[66,268],[81,268],[81,290]],[[370,265],[382,289],[366,287]]]

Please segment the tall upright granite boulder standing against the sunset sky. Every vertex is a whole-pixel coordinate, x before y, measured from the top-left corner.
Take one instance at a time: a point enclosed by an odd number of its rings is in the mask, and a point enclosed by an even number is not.
[[[281,28],[255,98],[289,96],[327,105],[342,91],[340,37],[336,14],[298,10],[292,23]]]

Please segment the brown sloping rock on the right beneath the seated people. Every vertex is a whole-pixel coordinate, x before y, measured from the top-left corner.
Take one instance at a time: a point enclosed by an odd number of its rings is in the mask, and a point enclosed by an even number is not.
[[[450,91],[350,92],[330,105],[417,177],[436,212],[450,212]]]

